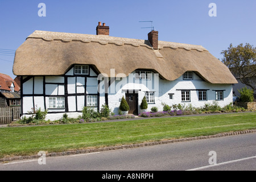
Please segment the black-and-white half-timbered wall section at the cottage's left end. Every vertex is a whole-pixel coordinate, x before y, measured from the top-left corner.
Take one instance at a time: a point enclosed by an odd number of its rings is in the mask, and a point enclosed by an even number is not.
[[[21,85],[23,114],[39,107],[48,113],[80,112],[87,106],[87,96],[97,96],[95,109],[100,109],[100,100],[105,103],[92,67],[87,75],[76,75],[73,66],[64,76],[22,76]]]

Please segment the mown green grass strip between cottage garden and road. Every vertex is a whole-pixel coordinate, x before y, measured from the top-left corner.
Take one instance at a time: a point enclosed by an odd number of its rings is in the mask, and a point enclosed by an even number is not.
[[[256,113],[0,128],[0,158],[256,129]]]

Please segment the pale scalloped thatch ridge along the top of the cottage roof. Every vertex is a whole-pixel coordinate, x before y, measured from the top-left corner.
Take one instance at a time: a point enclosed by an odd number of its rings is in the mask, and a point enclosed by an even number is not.
[[[135,47],[144,46],[152,49],[148,40],[143,39],[131,39],[131,38],[118,38],[108,35],[91,35],[91,34],[75,34],[67,32],[52,32],[36,30],[28,38],[41,38],[45,41],[61,40],[62,42],[80,41],[83,43],[98,42],[102,45],[115,44],[116,46],[131,45]],[[159,40],[159,49],[164,47],[170,48],[184,48],[186,50],[196,49],[197,51],[207,51],[203,46],[197,46],[192,44],[165,42]]]

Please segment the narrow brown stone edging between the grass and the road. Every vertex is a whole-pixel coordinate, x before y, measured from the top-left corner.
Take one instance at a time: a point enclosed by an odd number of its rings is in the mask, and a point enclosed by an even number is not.
[[[46,157],[75,155],[75,154],[87,154],[87,153],[92,153],[92,152],[119,150],[119,149],[125,149],[125,148],[135,148],[135,147],[146,147],[146,146],[154,146],[156,144],[185,142],[185,141],[191,141],[191,140],[218,138],[218,137],[226,137],[226,136],[249,134],[249,133],[256,133],[256,129],[255,130],[244,130],[244,131],[232,131],[232,132],[227,132],[227,133],[220,133],[220,134],[209,135],[209,136],[201,136],[201,137],[160,140],[160,141],[156,141],[156,142],[144,142],[144,143],[135,143],[135,144],[123,144],[122,146],[109,146],[109,147],[102,147],[102,148],[88,148],[88,149],[85,149],[85,150],[52,152],[52,153],[46,154]],[[13,160],[23,160],[23,159],[38,159],[39,157],[40,157],[39,155],[14,156],[12,158],[2,158],[2,159],[0,159],[0,162],[10,162],[10,161],[13,161]]]

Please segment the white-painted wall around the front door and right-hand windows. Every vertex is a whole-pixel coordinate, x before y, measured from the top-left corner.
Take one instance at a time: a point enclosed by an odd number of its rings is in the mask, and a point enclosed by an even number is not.
[[[133,72],[134,73],[134,72]],[[131,73],[131,74],[133,74]],[[118,114],[119,105],[121,102],[122,96],[125,96],[123,90],[140,90],[138,91],[138,104],[141,104],[142,98],[144,97],[145,92],[152,91],[155,92],[155,104],[148,104],[148,111],[151,107],[158,107],[159,111],[163,110],[162,103],[167,105],[173,104],[182,104],[188,105],[191,104],[195,107],[204,106],[205,103],[212,104],[215,101],[215,91],[213,90],[225,90],[224,91],[224,100],[217,101],[220,106],[225,106],[230,104],[233,101],[232,97],[232,85],[231,84],[209,84],[206,81],[203,81],[199,76],[193,73],[193,80],[183,80],[183,76],[177,78],[175,81],[167,81],[159,78],[159,82],[155,81],[158,77],[152,73],[151,80],[135,80],[132,77],[121,78],[121,81],[115,81],[110,85],[108,101],[109,107],[114,111],[115,114]],[[177,90],[179,89],[179,90]],[[191,101],[190,102],[181,102],[181,90],[180,89],[191,89]],[[209,89],[207,90],[207,101],[199,101],[198,91],[192,89]],[[113,92],[114,90],[114,92]],[[170,99],[168,93],[172,93],[173,99]],[[138,106],[139,108],[139,106]],[[140,113],[140,109],[139,109]]]

